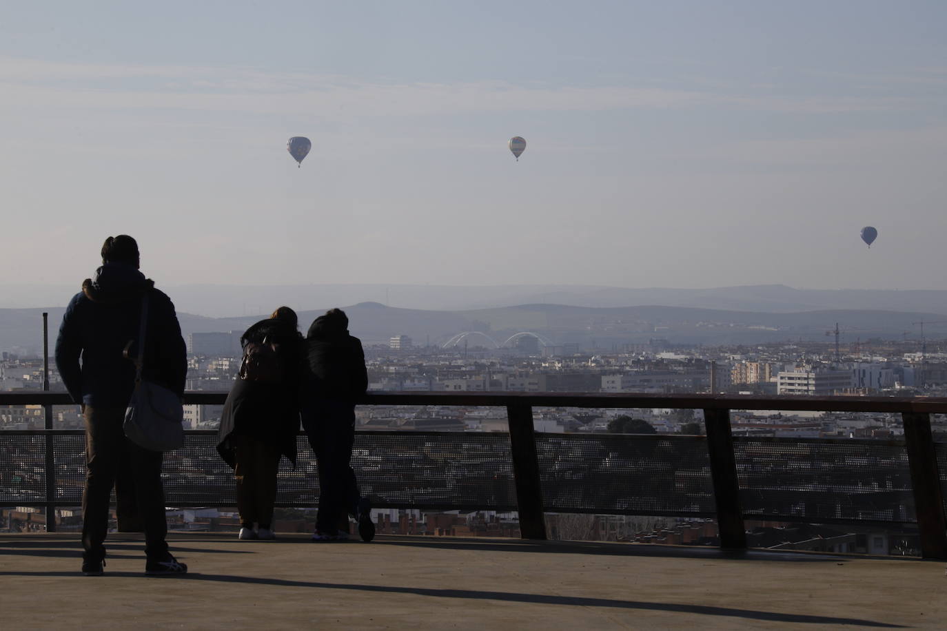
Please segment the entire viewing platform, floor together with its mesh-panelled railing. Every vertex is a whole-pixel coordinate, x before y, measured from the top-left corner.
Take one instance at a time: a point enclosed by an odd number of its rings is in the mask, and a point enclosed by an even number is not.
[[[194,392],[214,404],[225,393]],[[3,405],[64,394],[3,393]],[[947,400],[648,394],[366,394],[361,405],[506,408],[507,432],[365,431],[352,465],[376,507],[515,512],[523,538],[381,534],[370,544],[170,534],[186,577],[147,578],[140,535],[114,533],[106,576],[80,574],[75,533],[0,535],[4,626],[143,628],[944,628]],[[533,409],[703,410],[703,435],[533,429]],[[896,439],[734,436],[731,410],[897,413]],[[77,506],[77,429],[0,432],[0,503]],[[232,506],[214,431],[166,456],[169,506]],[[277,504],[313,507],[314,464],[282,468]],[[549,541],[559,514],[712,518],[716,546]],[[917,529],[917,556],[755,549],[747,522]],[[49,524],[55,527],[55,522]],[[560,537],[566,538],[566,537]],[[921,560],[918,557],[924,557]],[[120,580],[116,580],[120,579]],[[147,581],[148,583],[143,583]]]

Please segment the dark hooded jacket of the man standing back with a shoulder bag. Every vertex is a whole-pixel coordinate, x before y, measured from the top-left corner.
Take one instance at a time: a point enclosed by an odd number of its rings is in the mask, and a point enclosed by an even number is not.
[[[76,403],[128,405],[134,390],[141,298],[149,293],[143,377],[184,394],[188,356],[170,298],[132,265],[110,262],[86,278],[63,314],[56,340],[56,366]],[[80,363],[81,359],[81,363]]]

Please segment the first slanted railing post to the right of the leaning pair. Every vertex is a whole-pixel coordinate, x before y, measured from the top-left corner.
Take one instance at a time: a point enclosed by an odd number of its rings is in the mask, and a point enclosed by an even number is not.
[[[524,539],[545,540],[543,489],[539,480],[539,457],[533,434],[532,407],[507,406],[509,448],[516,479],[516,503],[520,515],[520,535]]]

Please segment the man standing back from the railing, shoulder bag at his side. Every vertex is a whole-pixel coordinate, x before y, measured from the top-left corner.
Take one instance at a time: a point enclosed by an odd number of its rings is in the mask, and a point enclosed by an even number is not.
[[[137,516],[145,530],[148,574],[188,570],[168,551],[162,454],[138,447],[122,430],[134,390],[142,297],[149,296],[142,375],[184,394],[187,351],[174,305],[138,272],[138,244],[127,235],[108,237],[102,266],[69,302],[56,340],[56,365],[85,422],[85,488],[82,493],[82,572],[103,573],[109,496],[113,485],[134,485]],[[81,359],[81,362],[80,362]]]

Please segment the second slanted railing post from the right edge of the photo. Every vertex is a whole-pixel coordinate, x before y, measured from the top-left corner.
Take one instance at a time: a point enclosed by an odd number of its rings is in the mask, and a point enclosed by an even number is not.
[[[720,547],[743,550],[746,548],[746,529],[740,504],[737,458],[733,453],[733,435],[730,433],[730,411],[705,410],[704,427],[707,432],[713,495],[717,501]]]

